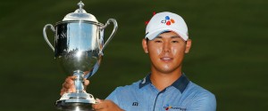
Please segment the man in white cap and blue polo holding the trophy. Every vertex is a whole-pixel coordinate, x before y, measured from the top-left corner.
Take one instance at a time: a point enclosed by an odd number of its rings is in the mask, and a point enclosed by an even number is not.
[[[116,88],[105,100],[97,99],[92,106],[96,111],[216,110],[214,94],[190,82],[181,71],[191,40],[180,15],[156,13],[147,24],[142,46],[151,60],[151,73],[136,83]],[[66,79],[61,94],[74,91],[73,78]]]

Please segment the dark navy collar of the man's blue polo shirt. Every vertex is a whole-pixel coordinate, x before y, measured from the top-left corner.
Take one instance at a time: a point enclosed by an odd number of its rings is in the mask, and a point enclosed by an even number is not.
[[[146,86],[149,83],[152,83],[150,76],[151,74],[147,75],[143,80],[141,80],[141,82],[139,83],[139,89]],[[188,83],[189,83],[189,80],[187,76],[182,74],[180,75],[179,79],[177,79],[174,83],[172,83],[171,86],[175,87],[182,93],[186,89]]]

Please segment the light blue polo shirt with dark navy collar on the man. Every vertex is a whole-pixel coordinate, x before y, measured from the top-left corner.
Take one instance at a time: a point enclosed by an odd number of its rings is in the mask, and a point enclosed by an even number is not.
[[[136,83],[116,88],[107,99],[126,111],[216,110],[214,94],[190,82],[184,74],[163,91],[158,91],[147,75]]]

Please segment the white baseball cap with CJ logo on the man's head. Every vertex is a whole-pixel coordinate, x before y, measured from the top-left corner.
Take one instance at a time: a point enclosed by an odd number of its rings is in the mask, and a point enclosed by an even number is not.
[[[147,24],[146,36],[153,40],[163,32],[172,31],[178,34],[183,40],[188,40],[188,28],[180,15],[172,12],[159,12]]]

